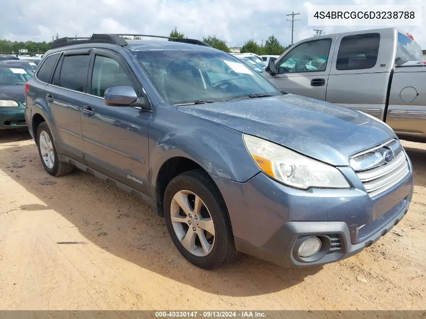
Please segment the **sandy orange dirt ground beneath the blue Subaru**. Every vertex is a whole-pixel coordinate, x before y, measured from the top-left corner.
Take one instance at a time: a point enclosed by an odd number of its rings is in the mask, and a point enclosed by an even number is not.
[[[426,309],[426,144],[403,145],[414,197],[373,246],[323,267],[241,254],[204,271],[141,200],[78,170],[52,177],[28,132],[0,132],[0,309]]]

